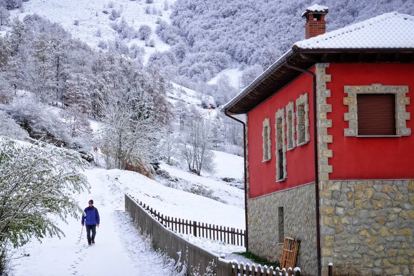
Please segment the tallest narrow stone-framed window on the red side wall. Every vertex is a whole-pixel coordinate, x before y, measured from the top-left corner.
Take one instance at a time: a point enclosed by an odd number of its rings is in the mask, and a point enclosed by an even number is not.
[[[276,113],[276,180],[285,180],[286,172],[286,122],[284,108],[277,110]]]

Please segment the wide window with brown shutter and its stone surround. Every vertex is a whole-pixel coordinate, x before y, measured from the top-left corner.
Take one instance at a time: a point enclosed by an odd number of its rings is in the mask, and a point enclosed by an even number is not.
[[[410,120],[405,108],[410,103],[407,85],[344,86],[344,93],[348,94],[344,97],[348,106],[344,120],[349,124],[344,136],[411,135],[406,122]]]

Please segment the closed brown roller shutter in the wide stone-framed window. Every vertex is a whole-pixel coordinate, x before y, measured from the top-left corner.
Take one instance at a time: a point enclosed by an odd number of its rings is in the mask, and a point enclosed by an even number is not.
[[[395,94],[360,94],[358,135],[395,135]]]

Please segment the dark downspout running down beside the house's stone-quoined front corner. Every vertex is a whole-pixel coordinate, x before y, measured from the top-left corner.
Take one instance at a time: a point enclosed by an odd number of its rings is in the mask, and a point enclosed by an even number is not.
[[[310,74],[312,76],[312,82],[313,82],[313,147],[314,147],[314,155],[315,155],[315,198],[316,198],[316,247],[317,247],[317,256],[318,256],[318,275],[321,274],[321,267],[320,267],[320,212],[319,212],[319,176],[318,176],[318,129],[317,129],[317,123],[318,120],[316,119],[316,109],[317,101],[316,101],[316,76],[313,72],[309,70],[304,70],[302,68],[296,67],[293,64],[289,62],[289,58],[286,58],[286,66],[289,68],[292,68],[294,70],[298,70],[300,72]]]

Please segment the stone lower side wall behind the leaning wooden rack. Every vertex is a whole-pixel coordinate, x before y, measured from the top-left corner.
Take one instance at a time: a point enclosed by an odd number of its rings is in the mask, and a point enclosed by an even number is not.
[[[279,207],[284,208],[284,236],[301,240],[296,266],[303,275],[317,275],[314,183],[248,200],[249,250],[280,261]]]

